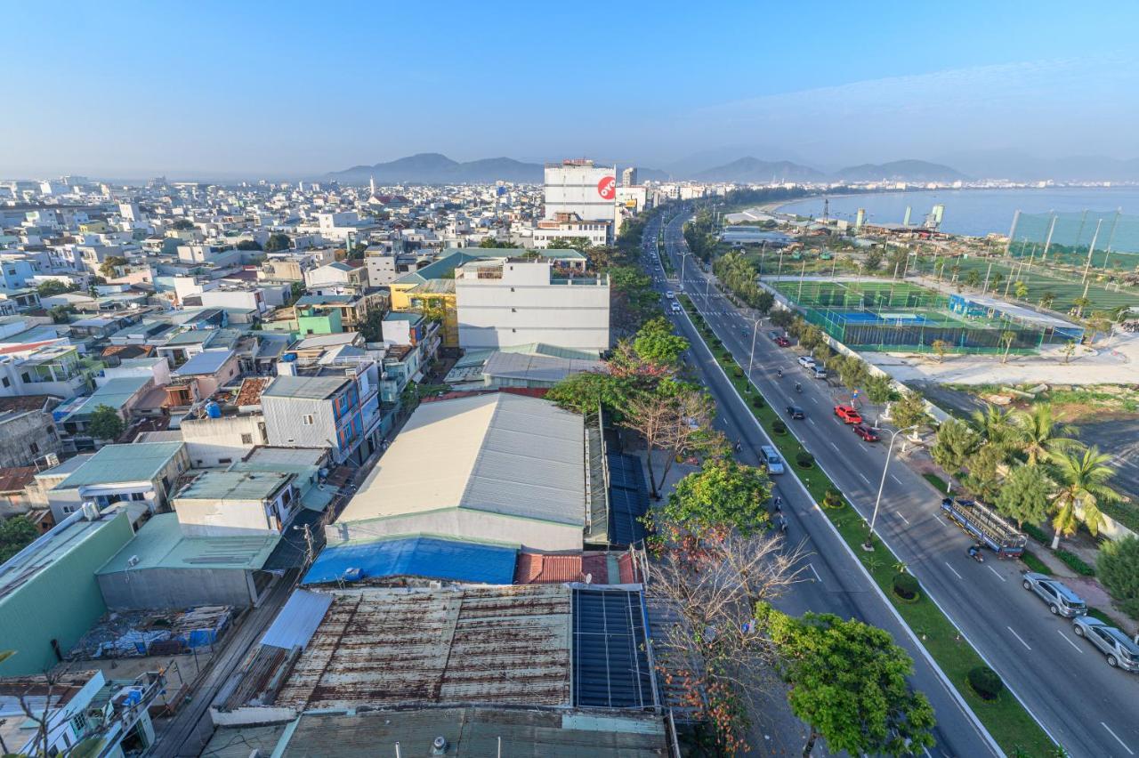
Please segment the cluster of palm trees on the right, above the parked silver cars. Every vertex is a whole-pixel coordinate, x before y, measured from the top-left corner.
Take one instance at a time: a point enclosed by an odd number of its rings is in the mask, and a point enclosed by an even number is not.
[[[1081,521],[1091,534],[1098,534],[1104,521],[1099,505],[1120,497],[1108,485],[1115,473],[1111,455],[1067,436],[1075,428],[1059,421],[1049,403],[1026,411],[1002,411],[990,405],[974,411],[970,420],[983,445],[995,446],[1006,464],[1035,467],[1047,477],[1048,512],[1055,530],[1052,550],[1062,535],[1075,534]]]

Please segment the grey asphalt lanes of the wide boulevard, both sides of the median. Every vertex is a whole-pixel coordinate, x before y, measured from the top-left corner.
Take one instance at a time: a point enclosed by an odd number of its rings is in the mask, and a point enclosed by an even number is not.
[[[687,250],[681,233],[689,214],[678,214],[665,228],[667,254],[681,271],[679,255]],[[653,231],[646,238],[654,239]],[[683,266],[685,290],[704,314],[724,346],[741,359],[745,370],[752,348],[753,318],[739,313],[714,287],[706,287],[706,277],[696,265]],[[707,291],[707,295],[705,295]],[[697,341],[691,324],[685,318],[674,319],[686,336]],[[746,333],[745,333],[746,332]],[[751,379],[772,407],[795,404],[806,411],[806,419],[788,421],[830,479],[867,518],[886,463],[886,444],[867,444],[837,418],[833,407],[843,397],[831,396],[831,388],[808,377],[798,366],[798,353],[780,348],[760,324],[754,339],[755,365]],[[706,352],[697,351],[700,363],[711,361]],[[714,366],[712,366],[714,369]],[[782,369],[784,377],[777,376]],[[715,374],[720,374],[720,381]],[[718,369],[705,371],[710,388],[720,402],[721,418],[734,438],[754,450],[762,439],[754,417],[743,405],[734,388]],[[794,385],[802,384],[802,394]],[[899,440],[898,445],[901,445]],[[753,459],[754,460],[754,459]],[[777,477],[779,489],[787,500],[802,494],[786,481],[789,473]],[[983,565],[966,555],[970,541],[940,517],[940,495],[904,464],[888,468],[877,532],[894,553],[920,580],[927,596],[947,612],[982,657],[1005,679],[1015,694],[1041,722],[1044,728],[1072,756],[1129,758],[1139,751],[1139,675],[1111,668],[1104,656],[1089,643],[1075,637],[1070,621],[1054,617],[1040,600],[1021,587],[1018,562],[998,561],[990,553]],[[845,543],[829,528],[826,517],[806,504],[796,504],[790,516],[792,536],[811,539],[818,559],[812,565],[820,570],[828,600],[844,602],[868,599],[872,594],[869,578],[846,553]],[[822,557],[828,557],[823,560]],[[831,584],[833,583],[833,584]],[[838,590],[839,592],[834,592]],[[804,594],[813,600],[806,588]],[[913,682],[926,692],[937,710],[941,724],[939,744],[951,748],[953,755],[984,755],[973,728],[952,706],[952,699],[939,697],[944,686],[932,676],[921,654],[915,651],[912,637],[899,629],[896,619],[880,608],[884,599],[855,604],[855,616],[888,629],[899,644],[910,649],[918,667]],[[831,610],[828,608],[828,610]],[[842,611],[835,611],[842,612]],[[974,739],[972,747],[960,740]]]

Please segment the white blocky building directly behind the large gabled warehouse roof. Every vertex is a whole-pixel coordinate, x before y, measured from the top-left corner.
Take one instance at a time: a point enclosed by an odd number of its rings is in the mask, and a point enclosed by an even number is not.
[[[547,343],[609,347],[609,278],[571,275],[549,261],[473,261],[454,275],[459,345]]]

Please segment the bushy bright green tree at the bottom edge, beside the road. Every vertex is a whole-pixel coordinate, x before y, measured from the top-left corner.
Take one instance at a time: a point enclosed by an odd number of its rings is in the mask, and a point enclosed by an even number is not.
[[[913,660],[888,632],[833,613],[794,618],[762,603],[792,711],[810,728],[803,756],[822,738],[833,753],[910,756],[934,744],[933,708],[907,677]]]

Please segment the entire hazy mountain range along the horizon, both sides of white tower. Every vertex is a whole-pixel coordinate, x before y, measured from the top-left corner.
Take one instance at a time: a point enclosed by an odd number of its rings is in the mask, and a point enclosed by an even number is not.
[[[711,154],[707,156],[711,157]],[[598,162],[612,165],[613,162]],[[947,164],[952,165],[947,165]],[[620,172],[623,167],[617,163]],[[958,166],[959,168],[954,168]],[[666,181],[691,179],[707,182],[767,183],[779,182],[951,182],[970,176],[1035,181],[1139,181],[1139,158],[1122,160],[1103,156],[1035,159],[1023,154],[968,153],[943,163],[928,160],[893,160],[860,164],[834,172],[823,172],[794,160],[762,160],[752,156],[729,163],[697,168],[674,165],[667,171],[638,166],[640,180]],[[375,178],[379,184],[485,184],[499,180],[541,183],[542,164],[514,158],[483,158],[458,162],[439,153],[420,153],[375,165],[359,165],[325,174],[322,179],[345,184],[367,184]]]

